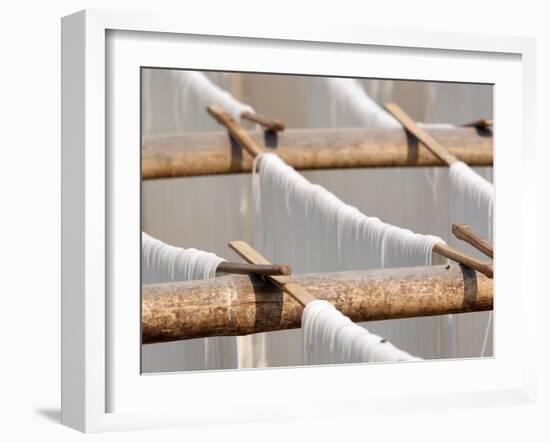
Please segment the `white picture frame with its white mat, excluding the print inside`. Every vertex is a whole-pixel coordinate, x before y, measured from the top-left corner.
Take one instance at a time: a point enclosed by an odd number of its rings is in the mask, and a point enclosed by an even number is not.
[[[87,10],[63,18],[62,56],[62,423],[96,432],[533,401],[534,340],[522,336],[535,327],[535,270],[523,265],[535,184],[501,178],[534,161],[533,40]],[[495,358],[140,375],[140,66],[494,83]]]

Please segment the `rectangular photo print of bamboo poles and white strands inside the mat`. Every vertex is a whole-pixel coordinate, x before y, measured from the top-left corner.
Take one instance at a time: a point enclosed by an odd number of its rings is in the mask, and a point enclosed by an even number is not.
[[[141,69],[141,372],[493,356],[493,86]]]

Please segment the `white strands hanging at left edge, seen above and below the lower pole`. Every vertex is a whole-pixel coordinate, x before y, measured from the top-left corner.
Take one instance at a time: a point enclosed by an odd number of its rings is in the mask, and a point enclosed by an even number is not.
[[[159,241],[142,232],[142,283],[208,279],[225,259],[214,253],[183,249]],[[237,368],[234,337],[203,338],[142,347],[144,372],[216,370]]]

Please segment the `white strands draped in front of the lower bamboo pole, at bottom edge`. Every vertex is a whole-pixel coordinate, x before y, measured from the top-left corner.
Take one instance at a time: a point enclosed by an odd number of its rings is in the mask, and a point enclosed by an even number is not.
[[[338,364],[420,360],[353,323],[327,301],[312,301],[302,313],[304,363]]]

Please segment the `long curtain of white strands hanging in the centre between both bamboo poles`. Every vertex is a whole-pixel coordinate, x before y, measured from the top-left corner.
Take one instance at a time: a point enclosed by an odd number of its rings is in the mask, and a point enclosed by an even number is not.
[[[364,215],[274,154],[256,159],[253,180],[256,246],[308,271],[429,265],[443,242]]]

